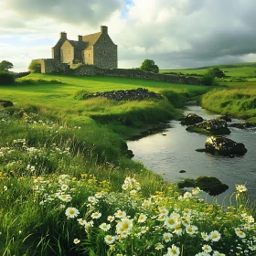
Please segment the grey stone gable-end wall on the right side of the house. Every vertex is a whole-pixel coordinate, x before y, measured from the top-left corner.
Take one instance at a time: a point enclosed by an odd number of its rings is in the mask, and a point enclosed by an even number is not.
[[[102,33],[93,46],[93,65],[98,68],[117,69],[117,46],[107,33]]]

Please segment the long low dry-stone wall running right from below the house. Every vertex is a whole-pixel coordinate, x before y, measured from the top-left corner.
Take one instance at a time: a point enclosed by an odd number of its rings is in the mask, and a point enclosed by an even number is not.
[[[99,69],[92,65],[80,65],[79,68],[74,69],[70,74],[75,76],[121,77],[202,85],[201,80],[197,78],[155,74],[151,72],[145,72],[140,69]]]

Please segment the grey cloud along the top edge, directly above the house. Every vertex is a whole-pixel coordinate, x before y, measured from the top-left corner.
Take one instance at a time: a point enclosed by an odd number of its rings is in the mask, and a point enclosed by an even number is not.
[[[27,20],[50,17],[65,23],[100,25],[101,21],[122,7],[120,0],[8,0],[6,5]]]

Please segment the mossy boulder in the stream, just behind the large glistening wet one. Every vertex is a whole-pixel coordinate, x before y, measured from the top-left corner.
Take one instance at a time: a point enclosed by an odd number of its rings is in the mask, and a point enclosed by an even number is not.
[[[227,122],[220,119],[210,119],[188,126],[187,131],[195,133],[230,134]]]

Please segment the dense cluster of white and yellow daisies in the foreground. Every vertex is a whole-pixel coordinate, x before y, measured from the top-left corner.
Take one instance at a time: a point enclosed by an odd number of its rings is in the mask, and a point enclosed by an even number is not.
[[[41,205],[59,205],[63,218],[77,223],[80,232],[73,240],[84,251],[101,255],[100,246],[105,254],[126,256],[256,253],[256,224],[246,209],[231,207],[230,214],[202,201],[198,188],[181,197],[156,192],[144,198],[130,193],[141,189],[133,177],[125,178],[121,193],[107,191],[90,175],[62,175],[51,181],[37,177],[34,183],[35,193],[43,197]],[[77,197],[84,198],[80,204]]]

